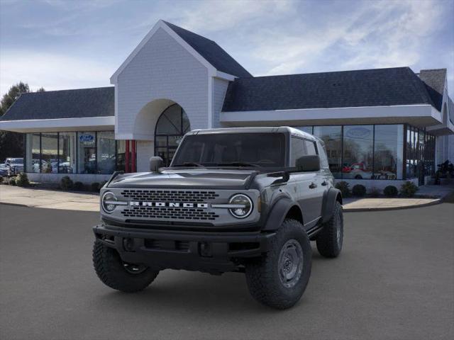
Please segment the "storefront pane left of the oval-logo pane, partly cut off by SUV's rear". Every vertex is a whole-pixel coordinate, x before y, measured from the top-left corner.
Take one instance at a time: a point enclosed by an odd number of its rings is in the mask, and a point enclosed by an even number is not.
[[[314,136],[325,142],[329,169],[335,179],[342,177],[342,126],[314,126]]]

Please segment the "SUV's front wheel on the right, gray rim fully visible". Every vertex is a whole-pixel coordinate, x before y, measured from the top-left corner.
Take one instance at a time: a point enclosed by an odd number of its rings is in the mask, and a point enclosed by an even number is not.
[[[270,251],[246,263],[249,292],[255,300],[278,309],[298,302],[311,276],[311,243],[297,220],[284,220]]]

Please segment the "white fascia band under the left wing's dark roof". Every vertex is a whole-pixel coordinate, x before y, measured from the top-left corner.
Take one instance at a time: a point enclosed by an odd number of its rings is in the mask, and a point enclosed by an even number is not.
[[[94,130],[114,130],[115,117],[84,117],[84,118],[56,118],[56,119],[29,119],[0,121],[0,130],[14,132],[47,131],[74,131],[84,128]]]

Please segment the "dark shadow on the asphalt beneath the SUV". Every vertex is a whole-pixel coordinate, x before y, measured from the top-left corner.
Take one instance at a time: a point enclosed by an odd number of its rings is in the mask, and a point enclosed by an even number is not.
[[[313,266],[322,261],[332,261],[321,257],[316,249],[313,250]],[[316,278],[312,277],[309,280],[308,288],[311,281],[314,285]],[[140,293],[122,293],[104,286],[102,288],[104,289],[100,294],[93,296],[93,302],[99,310],[121,308],[123,312],[131,314],[162,314],[190,310],[192,313],[216,319],[232,313],[237,317],[252,314],[256,316],[258,313],[282,313],[260,305],[250,296],[243,273],[212,276],[208,273],[165,270],[159,273],[155,282]],[[306,300],[308,297],[303,295],[294,308],[303,309]],[[207,314],[207,311],[210,313]]]

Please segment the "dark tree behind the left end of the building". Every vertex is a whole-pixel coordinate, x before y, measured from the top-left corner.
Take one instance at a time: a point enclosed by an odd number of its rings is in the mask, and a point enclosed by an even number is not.
[[[44,92],[43,88],[38,90]],[[8,93],[4,94],[0,101],[0,117],[8,111],[11,105],[21,96],[30,92],[28,84],[20,81],[11,86]],[[6,157],[23,157],[23,134],[18,132],[0,131],[0,162]]]

